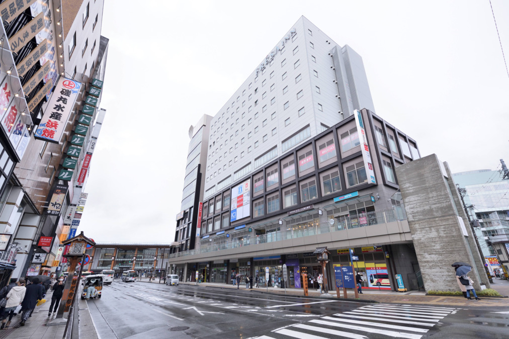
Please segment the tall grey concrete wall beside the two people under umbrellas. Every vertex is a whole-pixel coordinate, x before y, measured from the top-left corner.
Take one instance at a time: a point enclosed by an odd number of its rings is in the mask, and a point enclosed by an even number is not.
[[[475,289],[489,287],[479,276],[484,268],[446,164],[433,154],[397,167],[396,175],[426,290],[459,290],[455,261],[474,266]]]

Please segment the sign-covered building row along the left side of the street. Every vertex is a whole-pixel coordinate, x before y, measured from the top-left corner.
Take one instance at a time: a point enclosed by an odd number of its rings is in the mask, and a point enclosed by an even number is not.
[[[105,116],[102,9],[102,0],[0,4],[3,53],[12,59],[0,70],[2,142],[13,157],[2,165],[0,284],[61,269],[61,241],[79,225]]]

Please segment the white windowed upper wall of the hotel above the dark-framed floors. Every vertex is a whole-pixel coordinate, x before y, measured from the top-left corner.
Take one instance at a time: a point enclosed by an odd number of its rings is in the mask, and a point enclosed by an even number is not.
[[[285,37],[290,38],[286,40]],[[313,47],[310,43],[313,43]],[[349,112],[345,116],[338,113],[342,110],[341,101],[336,97],[338,87],[333,82],[336,79],[336,73],[331,68],[333,61],[329,53],[334,47],[341,51],[341,46],[335,44],[305,17],[299,18],[274,49],[282,45],[285,46],[284,52],[277,51],[272,63],[267,65],[264,71],[259,71],[258,75],[257,70],[251,73],[212,118],[207,165],[204,168],[204,191],[208,194],[205,194],[204,199],[216,193],[216,190],[212,188],[223,179],[231,176],[232,184],[239,181],[240,178],[234,179],[234,173],[247,164],[251,164],[251,171],[256,170],[253,166],[254,161],[274,146],[277,147],[277,156],[281,156],[282,141],[305,126],[310,126],[312,137],[321,133],[321,124],[333,126],[353,113],[353,111]],[[297,46],[298,51],[294,54]],[[268,51],[268,54],[270,55],[273,50]],[[352,57],[354,59],[352,64],[356,67],[352,81],[359,83],[356,88],[359,88],[361,95],[357,97],[362,98],[362,101],[371,102],[371,106],[368,107],[371,109],[372,101],[365,98],[367,95],[371,99],[371,95],[365,80],[362,59],[357,56],[358,54],[355,53]],[[283,61],[285,64],[282,65]],[[295,66],[297,61],[300,61],[299,66]],[[359,67],[362,72],[356,75]],[[318,77],[315,76],[314,71],[318,72]],[[282,76],[285,73],[286,78],[283,79]],[[296,77],[299,75],[301,79],[296,82]],[[283,93],[287,86],[288,91]],[[320,94],[317,93],[317,86],[320,88]],[[254,93],[257,88],[257,93]],[[303,95],[297,99],[297,94],[301,90]],[[271,103],[273,98],[274,103]],[[255,106],[257,100],[258,105]],[[289,107],[285,109],[287,102]],[[319,104],[322,110],[319,110]],[[265,111],[264,106],[266,106]],[[251,111],[249,111],[250,108]],[[301,108],[304,108],[305,113],[299,117],[298,111]],[[285,126],[288,118],[290,118],[290,124]],[[264,141],[265,136],[266,141]]]

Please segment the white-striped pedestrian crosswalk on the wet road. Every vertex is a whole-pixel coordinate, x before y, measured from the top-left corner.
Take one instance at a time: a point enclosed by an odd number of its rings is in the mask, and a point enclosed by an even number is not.
[[[258,339],[325,339],[398,337],[420,339],[433,326],[455,312],[451,307],[370,304],[332,316],[273,330]]]

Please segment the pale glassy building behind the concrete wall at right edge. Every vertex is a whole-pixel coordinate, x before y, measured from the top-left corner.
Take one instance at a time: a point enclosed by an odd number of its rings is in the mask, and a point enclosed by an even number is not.
[[[509,234],[509,180],[499,171],[477,170],[453,174],[458,187],[465,189],[464,201],[474,221],[475,235],[484,257],[495,255],[489,236]]]

